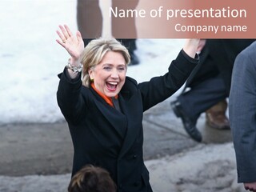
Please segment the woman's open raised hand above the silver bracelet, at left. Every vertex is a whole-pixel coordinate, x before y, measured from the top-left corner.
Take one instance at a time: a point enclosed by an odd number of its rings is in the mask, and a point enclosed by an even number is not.
[[[66,25],[60,25],[59,28],[60,31],[57,30],[56,32],[60,39],[56,39],[56,41],[67,50],[71,56],[72,62],[80,63],[82,59],[81,55],[84,50],[84,42],[82,41],[80,32],[78,31],[76,35],[74,35]]]

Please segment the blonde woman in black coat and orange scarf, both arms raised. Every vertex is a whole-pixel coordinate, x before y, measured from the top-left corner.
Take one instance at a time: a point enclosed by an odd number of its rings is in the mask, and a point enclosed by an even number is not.
[[[165,75],[137,83],[126,77],[130,56],[120,42],[95,39],[83,49],[79,32],[59,27],[57,42],[71,57],[59,74],[57,99],[74,145],[72,174],[92,164],[110,172],[118,191],[152,191],[143,162],[143,112],[183,85],[198,63],[199,39],[186,42]]]

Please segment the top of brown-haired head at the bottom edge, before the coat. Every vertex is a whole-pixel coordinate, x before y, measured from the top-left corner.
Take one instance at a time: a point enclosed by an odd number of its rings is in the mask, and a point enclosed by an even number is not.
[[[110,173],[101,167],[82,167],[70,181],[68,192],[116,192]]]

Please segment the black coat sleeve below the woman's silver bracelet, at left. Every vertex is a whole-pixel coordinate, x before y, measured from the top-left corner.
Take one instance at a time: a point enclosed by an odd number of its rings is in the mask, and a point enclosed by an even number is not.
[[[81,73],[78,78],[71,79],[66,73],[58,74],[60,78],[57,90],[57,102],[67,122],[78,123],[82,114],[86,113],[85,100],[82,98]]]

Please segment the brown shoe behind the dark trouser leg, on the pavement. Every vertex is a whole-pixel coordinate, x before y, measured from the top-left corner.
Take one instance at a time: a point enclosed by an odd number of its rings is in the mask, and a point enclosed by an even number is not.
[[[226,117],[227,102],[223,100],[206,110],[206,123],[217,130],[230,130],[230,121]]]

